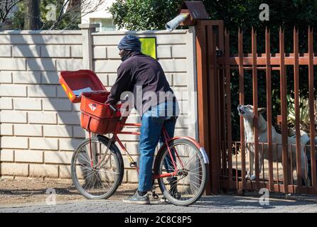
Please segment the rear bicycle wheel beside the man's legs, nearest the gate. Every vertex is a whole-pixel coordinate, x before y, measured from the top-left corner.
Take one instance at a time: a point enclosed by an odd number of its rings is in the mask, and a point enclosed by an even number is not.
[[[175,153],[173,160],[178,172],[173,177],[159,178],[159,187],[172,204],[188,206],[200,199],[205,190],[208,164],[205,164],[199,148],[190,140],[172,140],[168,146]],[[157,175],[175,171],[168,148],[164,148],[156,157],[154,170]]]

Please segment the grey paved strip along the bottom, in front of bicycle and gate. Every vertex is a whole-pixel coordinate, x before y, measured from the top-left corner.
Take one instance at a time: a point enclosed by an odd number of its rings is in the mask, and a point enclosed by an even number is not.
[[[256,196],[203,196],[191,206],[174,206],[159,201],[150,205],[124,204],[118,200],[65,201],[55,205],[23,204],[0,206],[1,212],[89,212],[89,213],[227,213],[227,212],[317,212],[317,197],[313,199],[270,198],[269,205],[261,205]]]

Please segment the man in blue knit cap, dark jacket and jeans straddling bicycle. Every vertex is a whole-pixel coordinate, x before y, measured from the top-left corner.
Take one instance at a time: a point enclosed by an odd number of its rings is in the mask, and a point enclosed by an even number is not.
[[[117,79],[110,90],[107,104],[116,104],[124,92],[133,92],[134,106],[141,116],[139,186],[133,196],[123,201],[149,204],[147,192],[152,189],[155,148],[159,142],[163,143],[163,126],[168,135],[173,137],[179,112],[178,102],[159,62],[141,53],[139,38],[125,35],[118,48],[122,63],[117,70]],[[166,163],[168,160],[165,160],[166,170],[173,172]]]

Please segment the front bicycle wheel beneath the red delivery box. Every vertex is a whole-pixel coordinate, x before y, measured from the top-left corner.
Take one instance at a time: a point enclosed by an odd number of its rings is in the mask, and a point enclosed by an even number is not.
[[[107,138],[84,140],[72,155],[72,182],[87,199],[107,199],[112,196],[122,182],[124,166],[117,146],[110,145]],[[92,158],[91,158],[92,157]],[[100,160],[101,165],[97,165]]]

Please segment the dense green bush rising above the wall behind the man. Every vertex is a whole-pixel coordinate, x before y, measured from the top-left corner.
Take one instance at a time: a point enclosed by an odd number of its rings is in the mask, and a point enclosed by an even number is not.
[[[165,23],[177,16],[181,3],[181,0],[118,0],[109,11],[119,28],[158,30],[165,29]]]

